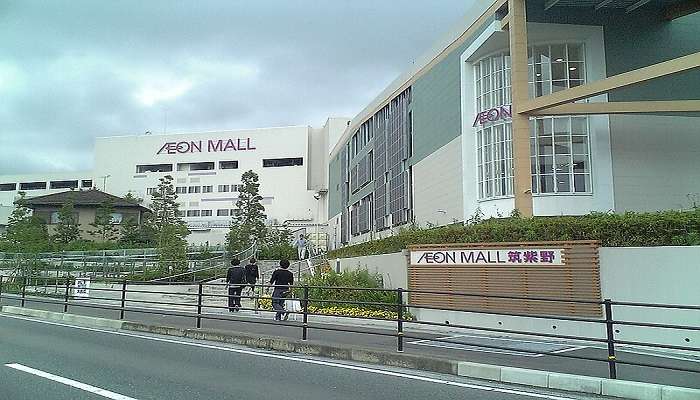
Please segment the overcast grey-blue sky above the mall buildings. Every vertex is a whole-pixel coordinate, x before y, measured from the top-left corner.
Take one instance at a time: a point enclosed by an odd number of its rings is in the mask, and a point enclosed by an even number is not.
[[[0,174],[89,169],[96,136],[353,117],[470,3],[1,0]]]

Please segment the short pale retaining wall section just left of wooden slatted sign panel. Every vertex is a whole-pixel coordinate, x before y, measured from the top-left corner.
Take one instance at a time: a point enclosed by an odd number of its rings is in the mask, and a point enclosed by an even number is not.
[[[387,289],[407,288],[408,275],[406,270],[407,253],[389,253],[377,256],[365,256],[340,259],[342,271],[367,269],[369,272],[377,272],[384,279],[384,287]],[[335,264],[330,260],[331,267]]]

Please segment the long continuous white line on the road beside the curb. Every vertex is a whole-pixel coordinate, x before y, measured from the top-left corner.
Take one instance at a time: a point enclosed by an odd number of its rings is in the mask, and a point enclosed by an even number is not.
[[[523,390],[511,390],[511,389],[504,389],[504,388],[499,388],[499,387],[476,385],[476,384],[469,384],[469,383],[463,383],[463,382],[455,382],[455,381],[449,381],[449,380],[445,380],[445,379],[428,378],[428,377],[420,376],[420,375],[412,375],[412,374],[406,374],[406,373],[401,373],[401,372],[385,371],[385,370],[376,369],[376,368],[360,367],[360,366],[356,366],[356,365],[341,364],[341,363],[337,363],[337,362],[313,360],[313,359],[299,358],[299,357],[291,357],[291,356],[284,356],[281,354],[263,353],[260,351],[235,349],[235,348],[231,348],[231,347],[222,347],[222,346],[215,346],[215,345],[203,344],[203,343],[185,342],[185,341],[181,341],[181,340],[166,339],[166,338],[145,336],[145,335],[139,335],[139,334],[133,334],[133,333],[97,329],[97,328],[87,328],[87,327],[83,327],[83,326],[62,324],[59,322],[50,322],[50,321],[37,320],[37,319],[33,319],[33,318],[17,317],[14,315],[2,315],[2,314],[0,314],[0,317],[20,319],[20,320],[31,321],[31,322],[47,324],[47,325],[63,326],[63,327],[67,327],[67,328],[80,329],[80,330],[86,330],[86,331],[91,331],[91,332],[101,332],[101,333],[108,333],[108,334],[118,335],[118,336],[133,337],[133,338],[144,339],[144,340],[152,340],[155,342],[179,344],[179,345],[183,345],[183,346],[199,347],[199,348],[210,349],[210,350],[221,350],[221,351],[227,351],[227,352],[238,353],[238,354],[246,354],[246,355],[251,355],[251,356],[273,358],[273,359],[285,360],[285,361],[295,361],[295,362],[304,363],[304,364],[323,365],[323,366],[327,366],[327,367],[348,369],[348,370],[352,370],[352,371],[368,372],[368,373],[373,373],[373,374],[377,374],[377,375],[392,376],[392,377],[397,377],[397,378],[406,378],[406,379],[411,379],[411,380],[421,381],[421,382],[435,383],[435,384],[441,384],[441,385],[447,385],[447,386],[456,386],[456,387],[465,388],[465,389],[483,390],[486,392],[496,392],[496,393],[506,393],[506,394],[525,396],[525,397],[533,397],[533,398],[546,399],[546,400],[575,400],[571,397],[562,397],[562,396],[540,394],[540,393],[530,393],[530,392],[526,392]]]

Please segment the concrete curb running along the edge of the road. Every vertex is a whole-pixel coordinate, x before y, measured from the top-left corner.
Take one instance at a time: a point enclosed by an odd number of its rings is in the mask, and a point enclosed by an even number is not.
[[[6,314],[21,315],[51,321],[61,321],[94,328],[109,328],[114,330],[146,332],[196,340],[208,340],[236,344],[255,349],[298,353],[310,356],[332,358],[336,360],[357,361],[368,364],[385,365],[483,379],[492,382],[612,396],[630,400],[700,400],[700,389],[623,381],[583,375],[561,374],[556,372],[479,364],[466,361],[444,360],[381,350],[355,348],[350,346],[332,346],[315,343],[313,341],[295,340],[283,337],[261,337],[243,332],[149,325],[139,322],[110,320],[106,318],[87,317],[82,315],[35,310],[14,306],[2,306],[1,311]]]

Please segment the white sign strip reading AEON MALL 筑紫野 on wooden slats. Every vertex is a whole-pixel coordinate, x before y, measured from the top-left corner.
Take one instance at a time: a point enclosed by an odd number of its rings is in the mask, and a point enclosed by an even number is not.
[[[411,265],[564,265],[564,249],[455,249],[411,251]]]

